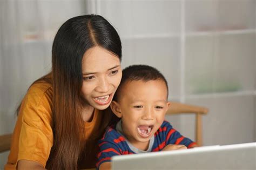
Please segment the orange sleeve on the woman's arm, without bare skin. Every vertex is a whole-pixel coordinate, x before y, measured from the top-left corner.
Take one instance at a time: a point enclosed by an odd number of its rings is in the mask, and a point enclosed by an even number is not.
[[[24,98],[16,165],[19,160],[31,160],[45,167],[53,144],[50,101],[46,92],[33,88]]]

